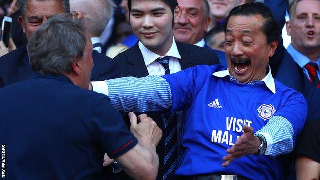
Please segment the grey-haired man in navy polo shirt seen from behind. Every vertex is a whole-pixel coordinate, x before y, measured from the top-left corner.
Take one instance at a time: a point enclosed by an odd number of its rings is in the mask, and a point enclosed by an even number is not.
[[[0,89],[7,177],[103,179],[107,152],[133,178],[154,179],[162,132],[145,114],[137,123],[131,112],[131,133],[108,97],[87,89],[92,43],[81,23],[55,15],[33,33],[27,49],[35,73]]]

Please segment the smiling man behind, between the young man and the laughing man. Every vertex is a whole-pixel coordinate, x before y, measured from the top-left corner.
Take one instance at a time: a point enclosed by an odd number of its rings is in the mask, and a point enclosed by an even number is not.
[[[215,52],[220,64],[227,65],[225,53],[212,49],[204,41],[210,22],[207,0],[179,0],[178,3],[181,14],[174,21],[174,38],[178,42],[194,44]]]

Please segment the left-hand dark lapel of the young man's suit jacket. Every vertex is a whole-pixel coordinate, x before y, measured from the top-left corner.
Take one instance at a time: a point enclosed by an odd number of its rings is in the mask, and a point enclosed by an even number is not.
[[[132,46],[131,51],[128,54],[126,54],[126,58],[127,58],[126,68],[129,76],[145,77],[149,75],[138,43]]]

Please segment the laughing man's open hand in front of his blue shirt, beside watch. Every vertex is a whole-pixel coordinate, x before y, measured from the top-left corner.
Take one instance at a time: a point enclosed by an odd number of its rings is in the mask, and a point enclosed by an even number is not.
[[[221,166],[228,166],[234,159],[258,152],[260,139],[254,136],[253,128],[243,126],[244,133],[236,140],[235,145],[227,149],[227,155],[222,159],[225,161]]]

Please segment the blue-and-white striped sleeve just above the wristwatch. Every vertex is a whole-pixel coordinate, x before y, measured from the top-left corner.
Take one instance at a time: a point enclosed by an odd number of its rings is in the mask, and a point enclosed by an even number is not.
[[[266,138],[267,148],[265,155],[276,157],[279,154],[289,153],[294,146],[294,130],[288,119],[282,116],[273,116],[268,123],[256,132]]]

